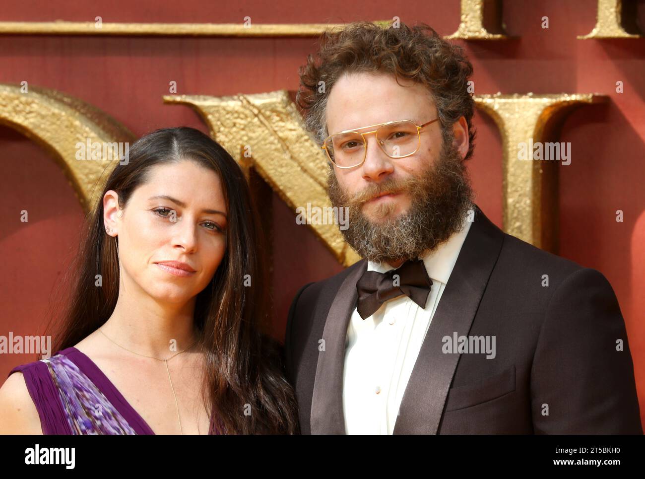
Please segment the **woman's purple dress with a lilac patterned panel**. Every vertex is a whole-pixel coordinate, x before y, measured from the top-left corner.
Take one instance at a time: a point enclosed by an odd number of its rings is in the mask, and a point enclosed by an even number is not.
[[[20,371],[43,434],[154,434],[103,371],[75,347],[26,363]],[[210,428],[213,434],[213,425]]]

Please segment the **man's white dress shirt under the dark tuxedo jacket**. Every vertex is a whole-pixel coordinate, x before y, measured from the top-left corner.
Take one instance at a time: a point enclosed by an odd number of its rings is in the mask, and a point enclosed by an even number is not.
[[[402,295],[385,301],[363,320],[355,309],[347,329],[342,405],[347,434],[392,434],[406,385],[441,294],[457,262],[471,222],[425,256],[432,280],[422,309]],[[368,261],[368,271],[386,272],[388,263]]]

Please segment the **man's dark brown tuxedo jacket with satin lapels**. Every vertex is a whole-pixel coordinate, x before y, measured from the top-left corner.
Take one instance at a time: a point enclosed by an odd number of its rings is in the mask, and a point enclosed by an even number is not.
[[[366,268],[358,261],[304,285],[293,299],[284,355],[303,434],[346,432],[346,332]],[[442,352],[442,338],[455,332],[494,335],[495,358]],[[394,433],[642,434],[627,334],[610,283],[597,270],[505,234],[477,208]]]

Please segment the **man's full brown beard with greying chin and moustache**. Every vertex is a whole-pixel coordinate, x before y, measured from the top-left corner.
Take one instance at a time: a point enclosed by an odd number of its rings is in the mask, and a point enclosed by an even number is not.
[[[473,208],[473,192],[452,140],[444,139],[439,159],[422,176],[371,183],[353,197],[341,189],[330,170],[327,187],[332,206],[349,208],[350,221],[341,229],[342,236],[362,258],[375,263],[421,258],[461,231],[465,215]],[[392,216],[395,205],[385,201],[372,209],[381,221],[371,221],[362,211],[364,203],[387,191],[408,192],[410,209]]]

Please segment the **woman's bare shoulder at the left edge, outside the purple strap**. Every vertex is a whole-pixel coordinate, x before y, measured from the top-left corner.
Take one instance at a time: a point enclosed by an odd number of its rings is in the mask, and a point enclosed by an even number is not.
[[[22,371],[12,371],[0,387],[0,411],[3,416],[0,434],[43,434],[40,416]]]

